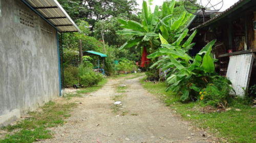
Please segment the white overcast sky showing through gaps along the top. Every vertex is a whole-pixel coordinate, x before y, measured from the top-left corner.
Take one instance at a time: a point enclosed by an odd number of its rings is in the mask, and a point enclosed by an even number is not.
[[[139,4],[138,8],[141,9],[143,0],[136,0],[136,1]],[[202,1],[204,3],[204,2],[208,2],[209,0],[202,0]],[[214,1],[220,1],[220,0],[211,0],[211,1],[214,3]],[[232,6],[234,3],[238,2],[238,1],[239,0],[223,0],[223,7],[220,11],[224,11],[224,10],[228,9],[230,6]],[[147,2],[147,0],[146,0],[146,2]],[[151,9],[154,10],[156,5],[161,6],[163,4],[163,2],[164,2],[164,0],[154,0],[153,5],[151,6]]]

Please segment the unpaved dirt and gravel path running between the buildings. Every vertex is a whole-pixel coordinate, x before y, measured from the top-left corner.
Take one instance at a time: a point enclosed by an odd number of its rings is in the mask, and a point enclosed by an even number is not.
[[[55,137],[40,142],[210,142],[209,137],[201,135],[204,131],[193,130],[189,123],[144,90],[140,78],[110,79],[91,96],[80,98],[82,104],[74,109],[68,122],[51,129]],[[120,84],[128,87],[127,96],[121,99],[125,116],[116,116],[112,110],[111,97],[120,94],[115,89]]]

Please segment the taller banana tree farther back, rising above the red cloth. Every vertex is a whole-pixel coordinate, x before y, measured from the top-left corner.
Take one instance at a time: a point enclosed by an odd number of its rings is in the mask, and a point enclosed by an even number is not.
[[[152,12],[147,3],[143,1],[141,23],[119,19],[118,21],[124,29],[117,31],[117,34],[132,36],[119,49],[136,46],[140,47],[141,51],[153,53],[161,45],[158,33],[161,33],[169,42],[176,41],[178,37],[175,36],[184,31],[183,27],[191,15],[183,12],[180,17],[174,17],[175,2],[173,0],[169,5],[164,2],[161,10],[156,6],[154,12]],[[156,60],[152,59],[153,63]]]

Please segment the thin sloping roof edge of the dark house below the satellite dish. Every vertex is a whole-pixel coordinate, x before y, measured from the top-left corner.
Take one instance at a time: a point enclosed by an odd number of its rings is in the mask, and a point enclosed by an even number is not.
[[[225,11],[223,11],[218,16],[215,16],[215,17],[211,18],[210,20],[208,20],[208,21],[206,21],[206,22],[204,22],[204,23],[202,23],[202,24],[192,28],[190,31],[194,31],[197,28],[204,27],[204,26],[206,26],[206,25],[208,25],[208,24],[210,24],[210,23],[212,23],[214,21],[217,21],[217,20],[225,17],[226,15],[228,15],[230,12],[238,9],[239,7],[241,7],[242,5],[244,5],[244,4],[246,4],[246,3],[250,2],[250,1],[253,1],[253,0],[239,0],[237,3],[235,3],[234,5],[232,5],[230,8],[226,9]]]

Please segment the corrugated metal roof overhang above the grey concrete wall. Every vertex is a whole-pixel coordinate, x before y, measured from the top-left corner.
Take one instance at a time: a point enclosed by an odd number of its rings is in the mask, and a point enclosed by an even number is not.
[[[57,0],[26,0],[26,2],[57,27],[59,32],[81,32]]]

